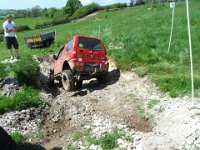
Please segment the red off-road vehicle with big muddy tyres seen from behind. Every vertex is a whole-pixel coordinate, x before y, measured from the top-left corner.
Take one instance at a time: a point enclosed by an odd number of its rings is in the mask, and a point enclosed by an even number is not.
[[[72,37],[53,55],[50,83],[61,80],[67,91],[82,87],[83,80],[96,78],[100,83],[108,80],[109,63],[102,40],[87,36]]]

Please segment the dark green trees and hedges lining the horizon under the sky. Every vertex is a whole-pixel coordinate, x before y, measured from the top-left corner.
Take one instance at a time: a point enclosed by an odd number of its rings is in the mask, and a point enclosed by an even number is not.
[[[133,7],[135,5],[142,5],[147,3],[162,3],[169,2],[172,0],[129,0],[128,3],[117,3],[108,6],[100,6],[99,4],[93,3],[90,4],[95,6],[98,9],[112,9],[117,7]],[[183,1],[183,0],[174,0],[174,1]],[[79,8],[84,7],[80,0],[68,0],[66,5],[61,9],[57,9],[55,7],[52,8],[44,8],[42,9],[40,6],[35,6],[31,9],[20,9],[16,10],[15,17],[17,18],[25,18],[25,17],[49,17],[49,18],[69,18],[71,17]]]

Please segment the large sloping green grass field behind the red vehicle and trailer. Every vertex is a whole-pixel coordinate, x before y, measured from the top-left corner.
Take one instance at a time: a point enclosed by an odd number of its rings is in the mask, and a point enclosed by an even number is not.
[[[195,69],[196,96],[200,91],[200,2],[190,1],[191,31]],[[38,18],[37,18],[38,19]],[[36,20],[37,20],[36,19]],[[41,21],[44,21],[43,19]],[[21,20],[33,26],[32,20]],[[172,47],[167,52],[171,27],[169,4],[139,6],[130,9],[101,12],[82,22],[63,24],[42,30],[18,33],[20,52],[23,56],[45,55],[58,51],[71,36],[76,34],[100,37],[105,42],[110,59],[122,70],[145,70],[145,74],[171,96],[187,95],[191,92],[190,59],[188,50],[187,20],[185,3],[176,5]],[[57,44],[47,49],[30,50],[24,44],[24,37],[43,31],[57,31]],[[9,57],[5,44],[0,43],[0,59]],[[139,72],[140,72],[139,71]],[[137,71],[138,72],[138,71]]]

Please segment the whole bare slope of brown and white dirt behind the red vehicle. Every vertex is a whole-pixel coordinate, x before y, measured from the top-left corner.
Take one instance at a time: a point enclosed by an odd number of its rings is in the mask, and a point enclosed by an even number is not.
[[[49,58],[46,59],[49,61]],[[42,85],[46,85],[49,67],[48,61],[44,60],[40,64]],[[45,122],[49,137],[43,143],[46,149],[65,146],[74,130],[92,127],[96,122],[100,122],[98,133],[102,133],[102,124],[107,124],[107,128],[112,124],[122,125],[128,130],[133,140],[129,144],[124,141],[125,149],[200,148],[199,99],[172,99],[160,93],[147,77],[120,73],[113,64],[110,81],[106,85],[91,80],[84,82],[83,89],[75,92],[65,92],[61,87],[44,86],[44,89],[54,96]],[[152,100],[159,101],[159,104],[148,108]],[[143,115],[150,120],[138,114],[138,104],[144,109]],[[94,122],[94,118],[98,117],[100,119]]]

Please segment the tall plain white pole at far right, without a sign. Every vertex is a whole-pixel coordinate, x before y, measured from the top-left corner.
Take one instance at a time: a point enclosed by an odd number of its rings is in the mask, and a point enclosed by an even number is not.
[[[189,38],[189,48],[190,48],[190,65],[191,65],[191,84],[192,84],[192,98],[194,98],[194,70],[193,70],[193,60],[192,60],[192,38],[190,31],[190,13],[189,13],[189,2],[186,0],[186,11],[187,11],[187,23],[188,23],[188,38]]]

